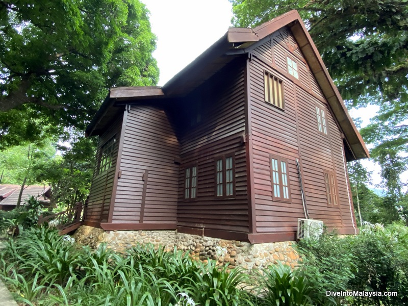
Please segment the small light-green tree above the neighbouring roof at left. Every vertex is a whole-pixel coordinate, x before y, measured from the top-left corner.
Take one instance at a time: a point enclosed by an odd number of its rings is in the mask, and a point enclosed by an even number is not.
[[[13,146],[4,150],[0,157],[3,184],[18,184],[21,186],[17,199],[18,208],[21,195],[25,186],[40,183],[38,180],[39,169],[55,156],[56,150],[50,140],[41,143],[28,143]],[[3,172],[4,171],[4,172]]]

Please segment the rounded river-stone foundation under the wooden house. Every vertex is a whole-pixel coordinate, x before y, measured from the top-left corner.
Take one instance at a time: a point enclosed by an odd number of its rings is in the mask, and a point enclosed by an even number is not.
[[[124,252],[137,243],[151,243],[164,246],[171,251],[174,247],[189,252],[194,260],[217,260],[219,264],[230,264],[251,270],[265,268],[277,261],[294,269],[299,255],[293,247],[296,242],[271,242],[250,244],[238,240],[224,240],[206,236],[177,233],[176,231],[111,231],[109,234],[99,228],[81,226],[74,234],[75,241],[96,248],[107,243],[109,248]]]

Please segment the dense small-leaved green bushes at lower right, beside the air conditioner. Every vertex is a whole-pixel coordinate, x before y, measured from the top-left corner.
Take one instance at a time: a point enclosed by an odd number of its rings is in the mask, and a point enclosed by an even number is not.
[[[315,305],[403,305],[408,271],[408,228],[398,223],[362,227],[361,234],[322,235],[299,243],[300,269],[313,284]],[[326,297],[329,291],[396,291],[398,296]]]

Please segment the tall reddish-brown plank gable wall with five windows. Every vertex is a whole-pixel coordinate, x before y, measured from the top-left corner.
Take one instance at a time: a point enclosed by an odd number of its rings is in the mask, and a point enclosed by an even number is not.
[[[254,50],[254,55],[250,62],[250,101],[257,234],[294,234],[297,218],[304,218],[296,158],[301,161],[310,216],[323,220],[330,227],[342,229],[341,232],[350,233],[347,228],[353,224],[341,132],[290,30],[282,29],[265,39]],[[299,80],[287,72],[287,56],[298,63]],[[284,111],[265,102],[264,71],[284,81]],[[325,110],[328,135],[318,133],[316,104]],[[288,159],[290,203],[272,200],[269,154]],[[327,205],[324,170],[336,175],[340,194],[338,207]]]

